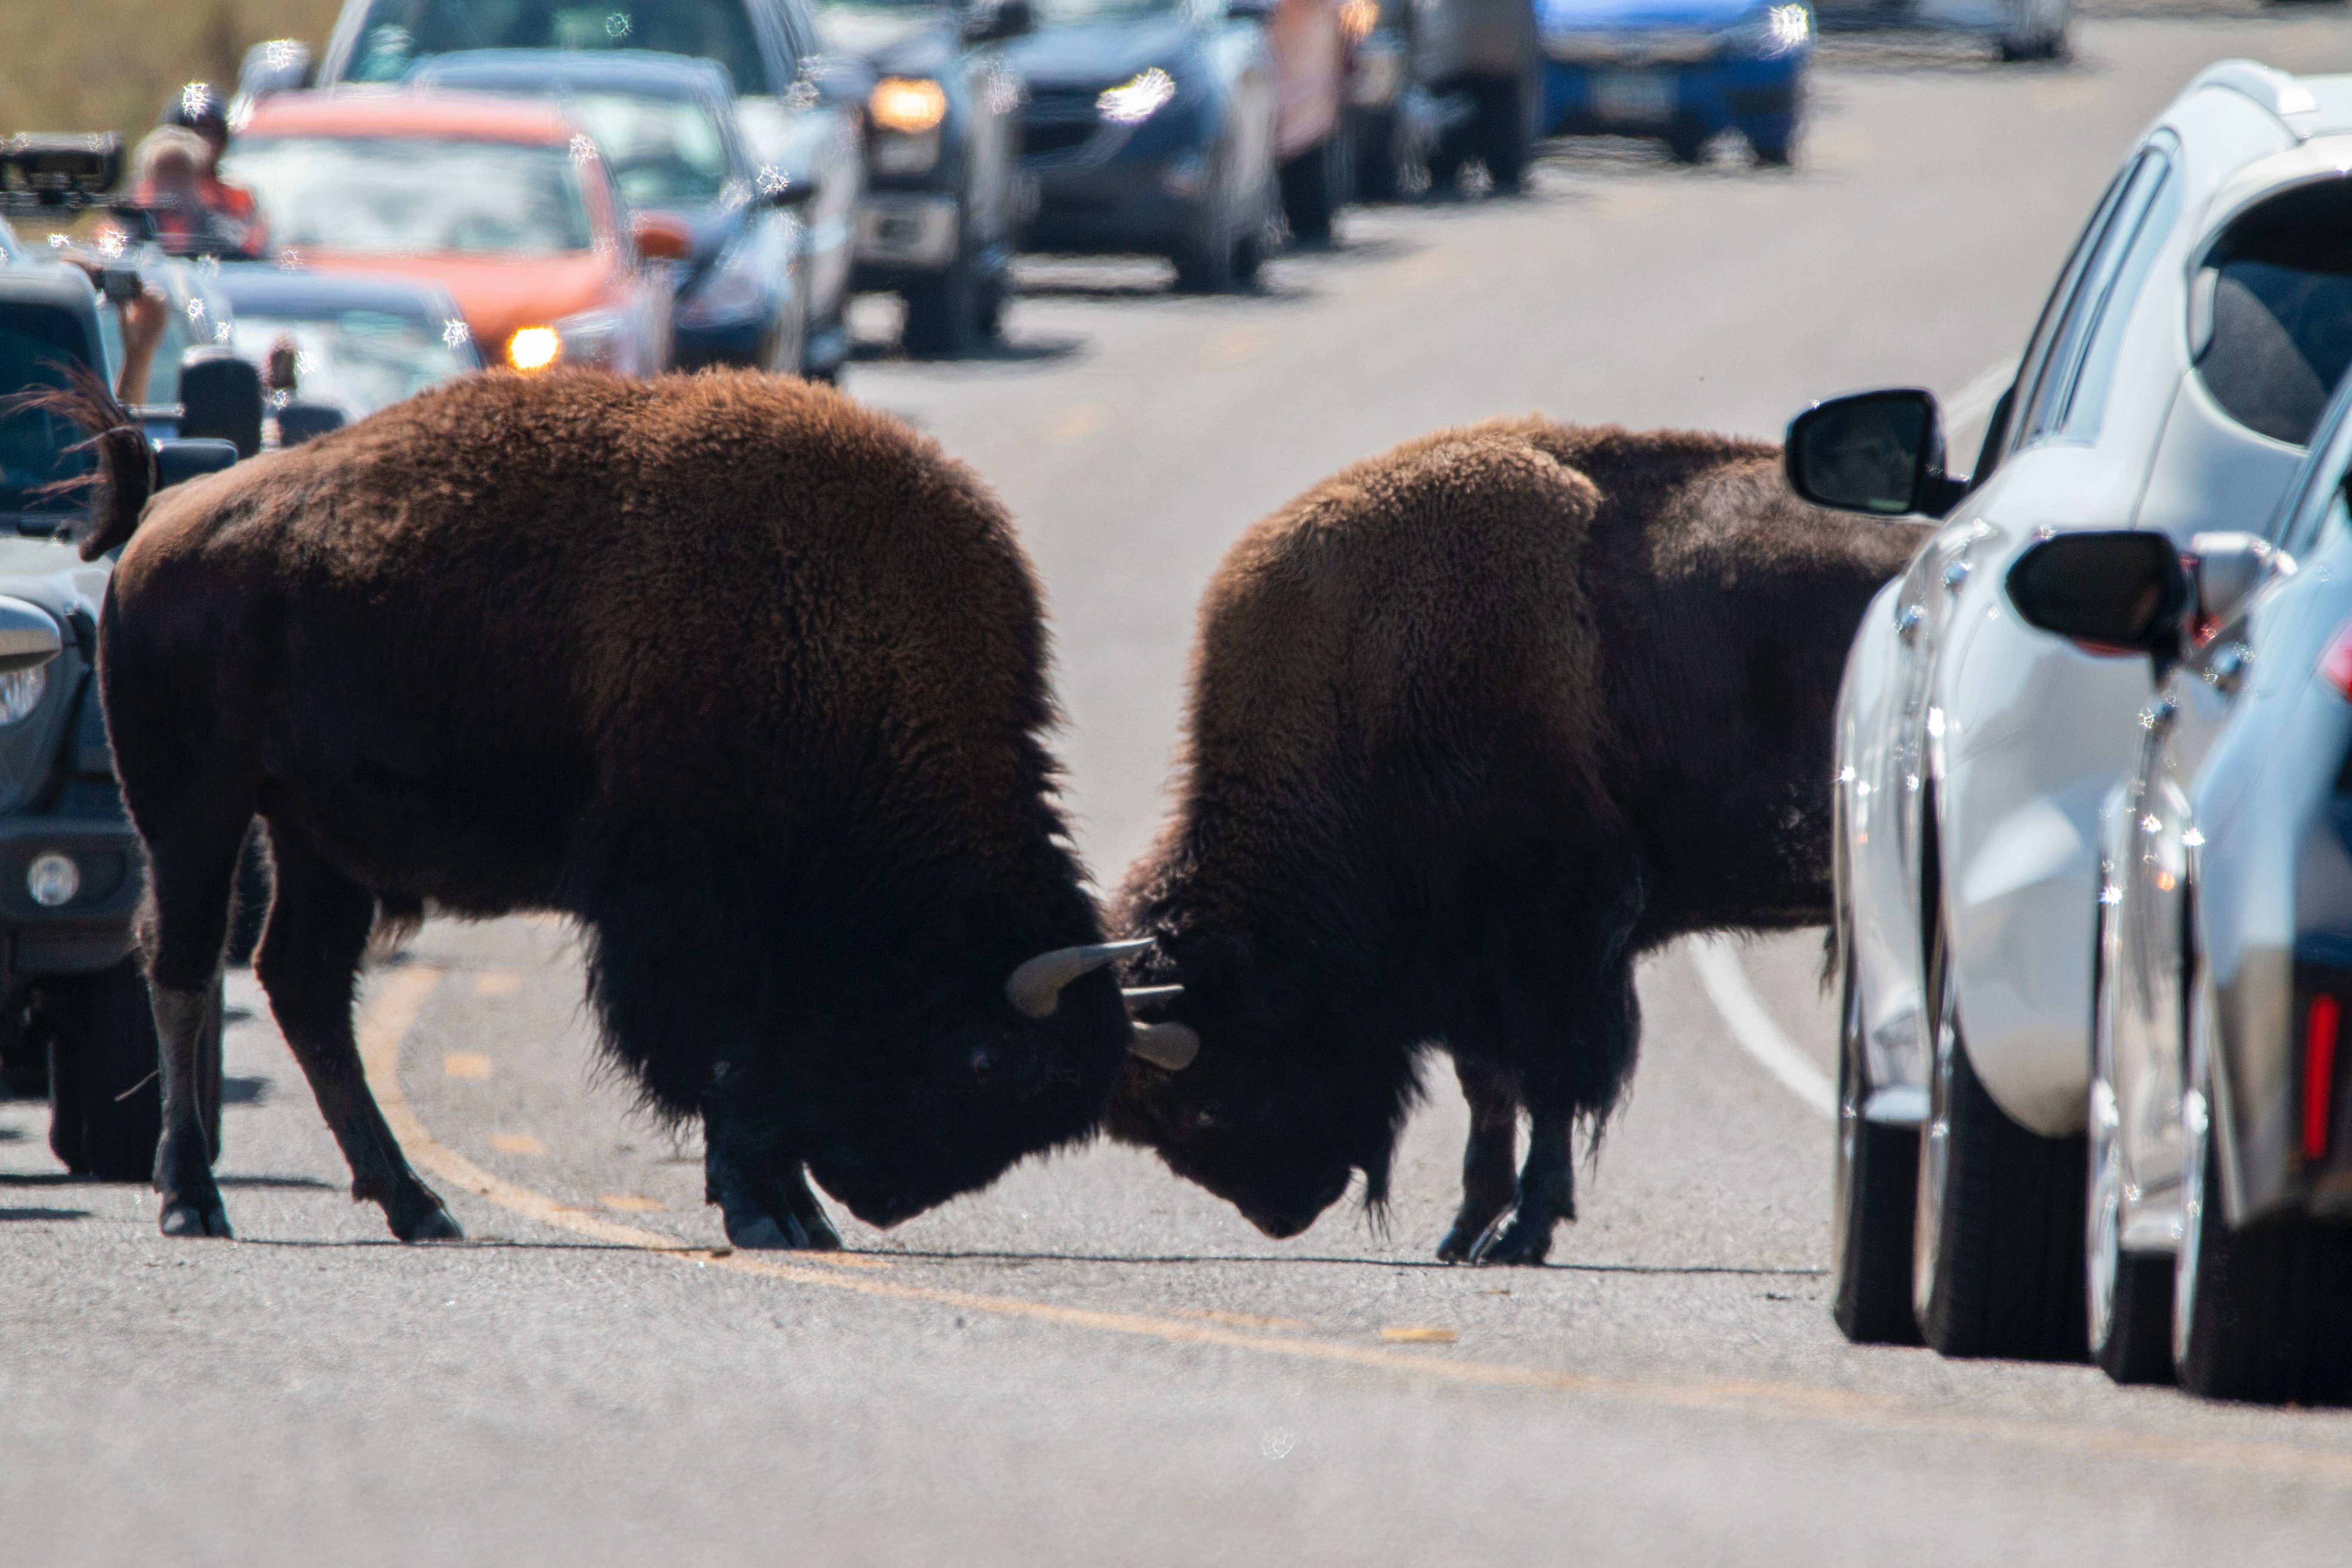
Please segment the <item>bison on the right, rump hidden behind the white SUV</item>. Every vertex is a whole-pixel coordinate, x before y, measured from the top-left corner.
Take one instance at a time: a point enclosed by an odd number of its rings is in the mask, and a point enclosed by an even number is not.
[[[1197,1060],[1131,1063],[1112,1133],[1289,1237],[1352,1171],[1385,1201],[1444,1044],[1472,1124],[1437,1255],[1543,1260],[1571,1126],[1632,1072],[1635,957],[1830,917],[1837,679],[1919,538],[1795,501],[1778,447],[1541,418],[1409,442],[1254,527],[1122,910],[1152,940],[1141,1011]]]

